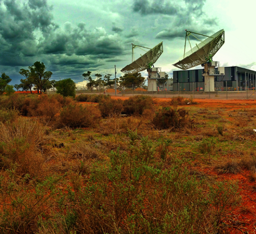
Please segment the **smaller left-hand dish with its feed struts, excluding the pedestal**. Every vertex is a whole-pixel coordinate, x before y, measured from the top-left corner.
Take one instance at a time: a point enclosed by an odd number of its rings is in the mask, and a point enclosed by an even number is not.
[[[146,48],[146,47],[143,47],[143,48]],[[150,48],[147,48],[147,49],[150,49]],[[138,58],[137,60],[133,61],[132,63],[130,63],[123,69],[121,69],[121,71],[131,75],[131,74],[146,70],[147,68],[151,68],[151,66],[158,60],[158,58],[162,53],[163,53],[163,42],[159,43],[154,48],[150,49],[148,52],[143,54],[140,58]]]

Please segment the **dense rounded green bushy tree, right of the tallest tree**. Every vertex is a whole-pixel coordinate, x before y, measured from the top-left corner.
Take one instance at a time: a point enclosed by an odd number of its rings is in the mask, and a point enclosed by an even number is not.
[[[57,89],[57,94],[75,97],[76,86],[71,78],[55,82],[55,88]]]

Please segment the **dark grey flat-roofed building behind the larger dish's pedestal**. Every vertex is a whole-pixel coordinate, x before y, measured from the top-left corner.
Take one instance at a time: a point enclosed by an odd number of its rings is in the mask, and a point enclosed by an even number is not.
[[[203,69],[174,71],[174,91],[204,91]],[[240,68],[225,67],[225,75],[215,77],[215,90],[235,91],[255,89],[256,71]]]

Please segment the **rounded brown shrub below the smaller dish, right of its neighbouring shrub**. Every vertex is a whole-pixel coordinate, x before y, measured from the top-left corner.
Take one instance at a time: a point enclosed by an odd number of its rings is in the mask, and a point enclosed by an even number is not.
[[[136,95],[124,101],[123,113],[128,115],[142,115],[144,110],[154,110],[153,98],[146,95]]]

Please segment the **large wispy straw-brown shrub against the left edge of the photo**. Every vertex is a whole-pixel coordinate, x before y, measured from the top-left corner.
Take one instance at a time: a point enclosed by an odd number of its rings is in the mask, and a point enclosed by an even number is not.
[[[0,132],[2,167],[10,168],[17,163],[19,173],[41,175],[43,157],[38,150],[45,142],[41,126],[37,122],[18,119],[12,123],[0,123]]]

